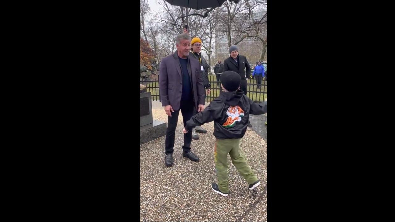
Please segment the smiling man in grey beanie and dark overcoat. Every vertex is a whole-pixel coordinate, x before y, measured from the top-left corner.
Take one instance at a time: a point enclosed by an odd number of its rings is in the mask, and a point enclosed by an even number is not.
[[[234,71],[240,75],[240,90],[247,95],[247,78],[246,76],[250,76],[251,66],[247,61],[246,56],[239,55],[239,50],[237,46],[231,45],[229,47],[229,58],[224,60],[224,71]],[[247,75],[246,75],[247,74]],[[248,120],[248,126],[252,127],[250,120]]]

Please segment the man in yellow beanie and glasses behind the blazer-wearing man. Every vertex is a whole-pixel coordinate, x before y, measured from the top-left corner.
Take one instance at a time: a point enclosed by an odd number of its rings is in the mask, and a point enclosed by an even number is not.
[[[211,91],[211,85],[209,83],[209,70],[210,66],[207,64],[207,61],[203,56],[201,56],[201,40],[198,37],[192,38],[191,41],[191,51],[192,51],[192,56],[191,58],[196,58],[199,63],[200,63],[200,70],[201,70],[201,75],[203,77],[203,86],[206,89],[206,94],[210,94]],[[207,130],[203,129],[201,126],[197,126],[196,128],[192,129],[192,139],[199,139],[199,135],[196,134],[196,132],[199,133],[207,133]]]

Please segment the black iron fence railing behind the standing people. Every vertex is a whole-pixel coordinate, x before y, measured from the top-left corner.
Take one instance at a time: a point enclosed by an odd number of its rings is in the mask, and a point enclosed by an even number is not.
[[[151,79],[151,80],[150,80]],[[211,92],[206,96],[206,102],[211,102],[221,93],[220,82],[217,82],[215,75],[209,75],[209,83],[211,85]],[[151,92],[152,100],[159,100],[159,80],[158,78],[141,79],[140,84],[147,87],[147,92]],[[267,81],[262,78],[261,87],[258,88],[256,79],[247,80],[247,96],[254,102],[263,102],[267,98]]]

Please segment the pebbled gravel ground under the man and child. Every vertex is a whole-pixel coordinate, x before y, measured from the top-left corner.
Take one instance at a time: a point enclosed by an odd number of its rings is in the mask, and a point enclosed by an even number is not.
[[[163,108],[152,105],[154,120],[167,122]],[[193,162],[182,156],[182,115],[175,135],[174,164],[164,164],[165,136],[140,146],[140,221],[267,221],[267,144],[248,129],[240,149],[261,182],[255,190],[228,158],[229,196],[211,190],[216,182],[213,122],[203,125],[208,133],[192,140],[199,156]]]

